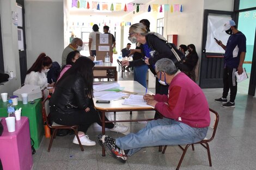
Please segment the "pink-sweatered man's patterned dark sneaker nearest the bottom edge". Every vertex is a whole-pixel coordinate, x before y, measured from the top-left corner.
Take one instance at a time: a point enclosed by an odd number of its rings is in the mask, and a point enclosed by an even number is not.
[[[110,153],[115,159],[119,160],[122,163],[125,163],[127,160],[127,155],[123,149],[118,148],[115,144],[105,142],[105,148],[107,152]]]

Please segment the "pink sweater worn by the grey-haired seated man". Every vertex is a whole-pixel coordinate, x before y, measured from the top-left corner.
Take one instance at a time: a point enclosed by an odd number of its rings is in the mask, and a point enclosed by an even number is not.
[[[155,95],[155,108],[164,117],[181,121],[194,128],[209,127],[208,102],[200,87],[184,73],[178,73],[169,85],[167,95]],[[166,104],[168,103],[168,104]]]

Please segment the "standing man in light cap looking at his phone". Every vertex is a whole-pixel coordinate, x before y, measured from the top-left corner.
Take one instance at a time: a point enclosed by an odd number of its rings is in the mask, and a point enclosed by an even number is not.
[[[246,37],[237,30],[235,22],[233,20],[224,24],[224,29],[229,34],[227,46],[223,45],[221,41],[216,40],[224,50],[224,72],[223,72],[223,93],[222,97],[215,99],[215,102],[221,102],[224,108],[235,107],[235,97],[237,92],[237,82],[235,78],[235,72],[242,74],[243,61],[245,60],[246,53]],[[230,99],[227,100],[228,91],[230,89]]]

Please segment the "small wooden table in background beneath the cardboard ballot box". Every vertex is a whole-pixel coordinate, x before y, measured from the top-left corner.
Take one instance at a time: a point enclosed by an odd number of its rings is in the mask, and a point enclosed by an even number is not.
[[[95,65],[93,70],[94,78],[113,78],[117,81],[117,66],[113,66],[111,62],[103,62],[102,65]]]

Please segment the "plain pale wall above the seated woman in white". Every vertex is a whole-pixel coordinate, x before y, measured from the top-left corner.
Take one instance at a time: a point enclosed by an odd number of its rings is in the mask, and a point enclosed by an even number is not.
[[[44,52],[61,64],[64,49],[63,1],[26,1],[27,65]]]

